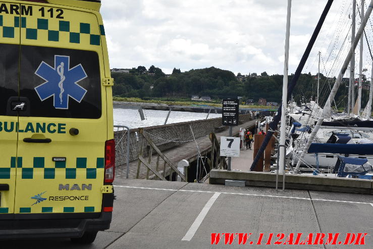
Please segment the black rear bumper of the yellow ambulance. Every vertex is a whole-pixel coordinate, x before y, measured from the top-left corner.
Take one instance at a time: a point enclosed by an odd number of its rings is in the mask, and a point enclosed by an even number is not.
[[[111,221],[111,212],[86,219],[0,220],[0,239],[77,238],[85,231],[109,229]]]

